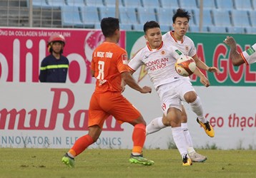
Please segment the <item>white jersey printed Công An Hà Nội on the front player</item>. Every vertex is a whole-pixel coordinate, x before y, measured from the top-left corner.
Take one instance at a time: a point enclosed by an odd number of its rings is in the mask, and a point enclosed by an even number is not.
[[[174,80],[183,78],[174,68],[177,58],[182,56],[184,54],[178,48],[167,46],[162,42],[162,45],[157,50],[152,50],[149,45],[142,48],[129,61],[128,66],[130,70],[136,71],[140,66],[145,65],[147,74],[154,88],[157,89],[160,85],[172,83]]]

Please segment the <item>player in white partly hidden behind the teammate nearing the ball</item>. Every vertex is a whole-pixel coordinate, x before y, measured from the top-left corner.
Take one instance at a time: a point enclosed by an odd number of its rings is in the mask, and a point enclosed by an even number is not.
[[[194,58],[194,60],[197,63],[197,67],[210,72],[220,73],[220,70],[218,70],[215,67],[208,67],[205,63],[203,63],[198,58],[194,42],[192,41],[191,38],[189,38],[188,36],[185,36],[185,34],[187,33],[187,29],[189,27],[189,19],[190,19],[190,15],[187,11],[184,11],[184,9],[177,9],[176,13],[172,17],[172,21],[173,21],[172,26],[174,28],[174,31],[168,31],[167,33],[165,33],[162,36],[162,41],[164,41],[164,43],[166,43],[167,46],[176,46],[185,55],[192,56],[192,58]],[[206,87],[210,85],[209,81],[205,79],[205,75],[200,70],[197,70],[197,75],[200,77],[200,81],[202,84],[204,84]],[[187,80],[189,80],[189,77],[187,77]],[[197,102],[195,101],[195,105],[197,105],[196,103]],[[200,125],[202,125],[207,135],[209,135],[210,137],[214,137],[214,134],[212,134],[214,132],[211,132],[211,130],[209,130],[210,124],[209,122],[206,122],[205,116],[204,115],[197,115],[197,116],[199,119],[200,118],[202,119],[202,121],[197,119],[197,122],[199,122]],[[164,115],[163,117],[154,118],[146,127],[147,135],[157,132],[167,126],[170,126],[169,121],[167,120],[166,117],[164,117]],[[187,127],[187,113],[183,105],[182,105],[181,126],[187,141],[187,152],[189,153],[189,157],[192,159],[192,162],[205,162],[207,157],[195,152],[195,149],[193,147],[192,138],[191,138],[191,135],[189,134],[189,130]]]

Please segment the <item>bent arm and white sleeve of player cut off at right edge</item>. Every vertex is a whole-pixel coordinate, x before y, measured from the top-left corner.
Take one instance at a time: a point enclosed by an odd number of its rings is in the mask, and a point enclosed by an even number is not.
[[[230,46],[230,58],[234,66],[240,66],[243,63],[246,63],[246,65],[256,63],[256,43],[239,53],[237,51],[237,43],[232,36],[227,36],[223,42]]]

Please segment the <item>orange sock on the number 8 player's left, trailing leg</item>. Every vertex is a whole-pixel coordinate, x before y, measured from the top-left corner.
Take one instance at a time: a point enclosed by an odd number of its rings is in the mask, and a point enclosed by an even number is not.
[[[82,153],[87,147],[89,147],[89,145],[92,145],[93,142],[94,140],[92,140],[92,137],[89,135],[79,137],[79,139],[74,142],[74,145],[69,150],[69,153],[75,157]]]

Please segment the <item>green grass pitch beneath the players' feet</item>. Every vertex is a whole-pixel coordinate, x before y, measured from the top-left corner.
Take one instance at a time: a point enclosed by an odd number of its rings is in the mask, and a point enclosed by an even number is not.
[[[154,165],[130,164],[130,150],[88,149],[75,168],[62,164],[68,149],[0,148],[0,178],[71,177],[256,177],[255,150],[197,150],[204,163],[183,167],[178,150],[144,150]]]

